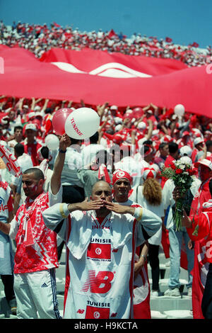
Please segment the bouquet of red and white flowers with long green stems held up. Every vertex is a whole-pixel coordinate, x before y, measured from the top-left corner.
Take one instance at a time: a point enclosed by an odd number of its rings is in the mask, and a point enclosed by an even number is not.
[[[182,215],[184,209],[184,193],[186,193],[192,186],[194,181],[195,170],[192,165],[184,163],[180,160],[172,161],[170,167],[163,169],[162,176],[167,179],[172,179],[175,187],[179,188],[182,193],[182,198],[177,199],[175,214],[173,216],[176,230],[180,231],[182,228]]]

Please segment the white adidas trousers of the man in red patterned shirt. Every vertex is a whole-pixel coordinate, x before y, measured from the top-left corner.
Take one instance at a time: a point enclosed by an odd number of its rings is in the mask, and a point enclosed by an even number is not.
[[[55,269],[14,274],[14,291],[19,319],[61,319]]]

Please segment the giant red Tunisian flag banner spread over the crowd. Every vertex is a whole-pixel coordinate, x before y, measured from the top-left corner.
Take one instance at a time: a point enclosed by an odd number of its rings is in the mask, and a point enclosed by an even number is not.
[[[83,99],[90,105],[174,108],[180,103],[186,111],[212,116],[212,75],[206,66],[188,68],[177,60],[88,48],[52,49],[39,60],[28,50],[0,45],[0,57],[1,95],[76,103]]]

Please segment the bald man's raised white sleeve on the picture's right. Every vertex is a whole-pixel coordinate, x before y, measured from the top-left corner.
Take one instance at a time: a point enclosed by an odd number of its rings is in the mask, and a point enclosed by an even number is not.
[[[136,246],[155,235],[162,225],[161,218],[146,208],[136,208],[134,218],[138,221]]]

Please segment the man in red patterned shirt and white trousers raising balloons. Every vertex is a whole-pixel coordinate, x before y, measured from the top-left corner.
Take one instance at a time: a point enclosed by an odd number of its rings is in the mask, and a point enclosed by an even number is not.
[[[16,239],[14,290],[20,319],[61,318],[55,280],[55,269],[59,266],[57,235],[45,226],[42,212],[62,201],[61,171],[70,143],[67,135],[61,137],[49,192],[43,190],[45,177],[40,169],[25,170],[22,175],[25,203],[20,205],[11,223],[0,222],[0,231]]]

